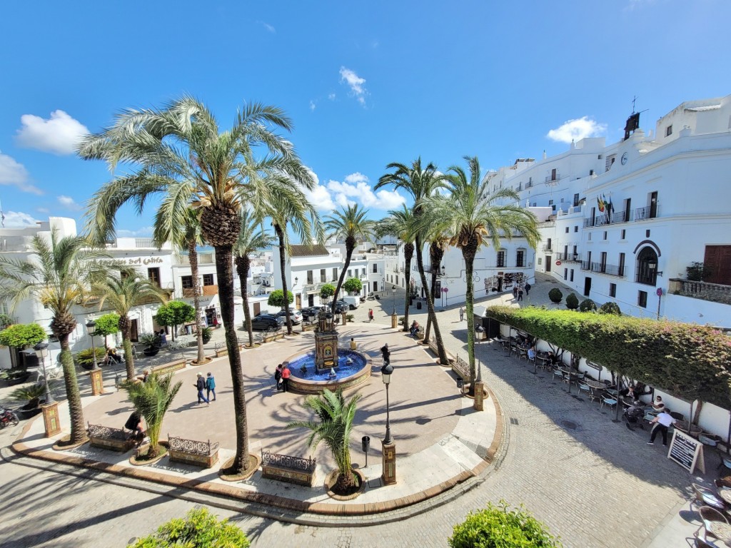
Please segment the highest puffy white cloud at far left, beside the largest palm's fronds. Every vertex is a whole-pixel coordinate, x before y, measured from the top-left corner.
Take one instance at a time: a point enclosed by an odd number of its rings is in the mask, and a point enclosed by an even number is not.
[[[18,145],[54,154],[73,154],[80,138],[89,130],[63,110],[54,110],[45,120],[33,114],[20,116],[22,127],[15,135]]]

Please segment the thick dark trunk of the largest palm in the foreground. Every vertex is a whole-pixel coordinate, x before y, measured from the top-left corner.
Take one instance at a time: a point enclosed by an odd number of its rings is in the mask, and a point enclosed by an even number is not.
[[[243,388],[243,369],[241,354],[236,338],[233,305],[232,246],[216,246],[216,277],[219,278],[219,300],[221,319],[226,333],[231,381],[233,384],[234,422],[236,424],[236,456],[228,473],[238,474],[246,471],[249,465],[249,433],[246,421],[246,394]]]

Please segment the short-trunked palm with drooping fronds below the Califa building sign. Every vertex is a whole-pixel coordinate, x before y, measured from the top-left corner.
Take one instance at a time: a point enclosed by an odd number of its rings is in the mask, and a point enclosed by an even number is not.
[[[127,380],[134,381],[135,357],[132,355],[130,340],[132,321],[129,319],[129,312],[135,306],[151,300],[166,302],[167,293],[151,281],[141,278],[136,270],[126,268],[121,269],[119,273],[107,274],[104,280],[94,283],[90,293],[99,298],[99,310],[106,304],[119,315],[118,327],[122,333]]]

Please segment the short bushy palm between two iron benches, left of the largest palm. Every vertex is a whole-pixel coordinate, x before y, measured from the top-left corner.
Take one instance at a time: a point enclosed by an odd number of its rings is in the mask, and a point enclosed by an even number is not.
[[[124,383],[122,386],[127,391],[132,405],[147,423],[147,435],[150,438],[150,450],[147,455],[148,458],[154,458],[160,452],[162,419],[178,390],[183,386],[183,381],[173,383],[172,374],[161,377],[152,373],[145,382]]]

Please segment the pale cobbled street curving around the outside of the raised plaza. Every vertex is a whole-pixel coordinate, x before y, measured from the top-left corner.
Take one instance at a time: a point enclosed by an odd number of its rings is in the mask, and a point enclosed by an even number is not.
[[[553,286],[539,279],[529,300],[521,304],[546,302]],[[512,301],[507,295],[490,297],[491,302],[497,300]],[[384,301],[390,311],[390,300]],[[379,303],[366,305],[375,309],[373,305]],[[367,311],[368,306],[361,305],[356,319]],[[425,316],[416,319],[422,322]],[[386,313],[376,313],[376,321],[385,323]],[[439,321],[447,346],[462,353],[466,321],[458,321],[458,307],[440,312]],[[483,378],[506,418],[506,452],[499,468],[457,500],[387,525],[367,527],[364,520],[362,528],[315,528],[214,511],[232,517],[256,547],[298,548],[445,547],[452,526],[469,511],[500,499],[525,504],[561,536],[566,547],[645,547],[664,522],[677,516],[688,496],[686,488],[696,480],[667,460],[662,446],[645,445],[647,433],[613,423],[612,411],[569,395],[564,384],[546,373],[534,374],[532,366],[505,357],[501,349],[482,344],[477,355],[484,364]],[[0,433],[3,445],[9,435]],[[393,435],[398,440],[398,430]],[[713,473],[716,463],[707,460],[707,469]],[[0,548],[123,547],[132,537],[149,533],[194,506],[136,485],[120,487],[93,477],[93,473],[76,478],[0,464],[0,482],[5,486]],[[686,514],[691,520],[692,514]],[[688,544],[678,538],[665,546]]]

